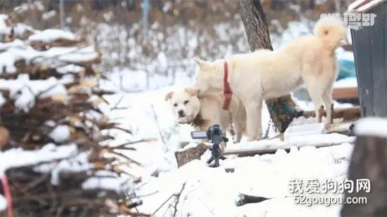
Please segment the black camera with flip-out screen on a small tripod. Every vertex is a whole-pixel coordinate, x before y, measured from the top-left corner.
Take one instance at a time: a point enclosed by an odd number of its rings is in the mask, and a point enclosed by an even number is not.
[[[221,156],[219,145],[224,142],[227,143],[228,139],[224,136],[222,129],[219,124],[214,124],[208,128],[207,131],[192,131],[191,138],[193,139],[208,139],[210,143],[212,143],[211,157],[208,159],[207,164],[210,164],[212,161],[215,161],[214,164],[210,165],[210,167],[218,167],[219,159],[226,159]]]

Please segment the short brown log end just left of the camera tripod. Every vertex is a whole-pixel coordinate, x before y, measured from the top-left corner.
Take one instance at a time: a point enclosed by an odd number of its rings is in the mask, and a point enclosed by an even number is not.
[[[183,166],[184,164],[191,162],[194,159],[201,159],[201,155],[208,150],[208,145],[204,143],[198,144],[196,147],[184,148],[175,152],[177,167]]]

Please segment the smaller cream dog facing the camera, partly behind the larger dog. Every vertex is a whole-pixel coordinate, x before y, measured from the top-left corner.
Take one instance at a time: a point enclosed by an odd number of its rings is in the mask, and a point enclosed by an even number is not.
[[[205,131],[213,124],[229,129],[229,112],[222,110],[223,93],[206,93],[200,98],[197,93],[195,88],[184,88],[165,96],[165,101],[170,100],[172,112],[179,123],[192,124],[196,131]],[[246,111],[235,97],[231,99],[229,110],[236,133],[235,142],[239,143],[246,128]]]

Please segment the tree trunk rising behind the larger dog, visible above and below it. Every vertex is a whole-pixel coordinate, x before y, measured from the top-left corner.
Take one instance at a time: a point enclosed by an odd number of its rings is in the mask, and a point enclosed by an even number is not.
[[[273,50],[266,16],[260,1],[239,0],[239,14],[246,30],[250,50],[262,48]],[[303,110],[296,105],[290,95],[265,100],[265,103],[270,118],[281,133],[284,133],[294,117],[300,117],[303,114]]]

